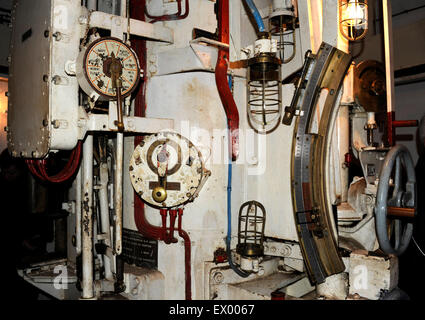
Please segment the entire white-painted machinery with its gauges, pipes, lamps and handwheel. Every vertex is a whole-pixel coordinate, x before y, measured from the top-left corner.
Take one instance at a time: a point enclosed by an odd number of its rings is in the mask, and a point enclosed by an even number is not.
[[[339,2],[15,0],[9,150],[70,182],[66,256],[21,276],[60,299],[399,290],[413,163],[394,118],[377,130],[393,79],[352,63]]]

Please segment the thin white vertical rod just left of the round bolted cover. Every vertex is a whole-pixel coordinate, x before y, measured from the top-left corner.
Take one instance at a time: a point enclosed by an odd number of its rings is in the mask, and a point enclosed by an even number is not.
[[[117,132],[115,161],[115,253],[120,255],[122,252],[122,175],[124,159],[124,134]]]

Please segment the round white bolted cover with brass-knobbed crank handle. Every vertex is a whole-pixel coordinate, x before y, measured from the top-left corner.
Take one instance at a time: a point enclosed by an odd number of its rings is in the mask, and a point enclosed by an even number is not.
[[[130,180],[139,196],[157,208],[193,201],[210,176],[202,154],[174,132],[147,136],[130,160]]]

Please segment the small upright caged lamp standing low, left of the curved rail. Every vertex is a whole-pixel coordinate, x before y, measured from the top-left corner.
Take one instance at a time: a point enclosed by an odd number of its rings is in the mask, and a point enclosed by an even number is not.
[[[244,257],[264,254],[266,210],[257,201],[245,202],[239,210],[238,245],[236,252]]]

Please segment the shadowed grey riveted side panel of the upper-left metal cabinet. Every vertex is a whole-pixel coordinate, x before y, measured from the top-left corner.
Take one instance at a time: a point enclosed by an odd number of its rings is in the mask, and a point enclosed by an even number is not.
[[[12,9],[8,147],[13,156],[49,150],[51,0],[15,0]],[[32,154],[34,153],[34,154]]]

